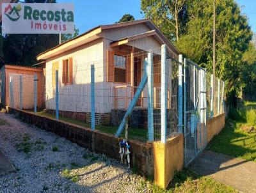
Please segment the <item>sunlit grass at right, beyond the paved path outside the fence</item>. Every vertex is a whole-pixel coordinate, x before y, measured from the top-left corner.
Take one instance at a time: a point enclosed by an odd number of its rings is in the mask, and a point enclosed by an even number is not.
[[[255,127],[255,131],[248,133],[244,127]],[[231,111],[225,128],[212,139],[209,148],[256,162],[256,102],[244,102]]]

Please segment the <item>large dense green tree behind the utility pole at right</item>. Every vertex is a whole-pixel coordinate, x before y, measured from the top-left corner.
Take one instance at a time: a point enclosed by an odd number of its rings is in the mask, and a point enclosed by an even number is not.
[[[177,47],[188,58],[212,72],[212,0],[187,3],[188,31]],[[203,8],[203,9],[202,9]],[[216,75],[226,83],[229,102],[238,95],[243,78],[243,54],[248,50],[252,30],[234,0],[216,2]]]

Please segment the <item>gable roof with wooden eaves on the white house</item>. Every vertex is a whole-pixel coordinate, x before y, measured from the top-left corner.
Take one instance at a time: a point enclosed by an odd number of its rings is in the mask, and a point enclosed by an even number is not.
[[[125,26],[132,26],[136,24],[146,24],[146,26],[151,29],[147,33],[143,33],[141,35],[135,35],[127,37],[130,38],[140,38],[140,36],[149,36],[149,35],[157,35],[158,38],[160,38],[163,43],[166,43],[167,47],[173,50],[173,52],[176,52],[179,54],[179,50],[163,35],[163,33],[160,31],[160,29],[152,22],[150,19],[141,19],[141,20],[132,20],[129,22],[122,22],[122,23],[116,23],[116,24],[110,24],[110,25],[101,25],[97,27],[93,27],[89,31],[86,31],[85,33],[76,36],[76,38],[72,38],[70,40],[67,40],[66,42],[61,43],[60,45],[56,45],[55,47],[52,47],[49,50],[46,50],[45,52],[42,52],[36,56],[36,59],[47,59],[47,56],[49,54],[54,54],[54,56],[60,54],[61,52],[65,50],[74,49],[75,47],[79,47],[80,45],[83,45],[88,42],[92,42],[93,40],[97,40],[98,38],[104,38],[100,36],[100,33],[104,29],[115,29],[117,27],[125,27]],[[125,38],[123,38],[125,39]],[[116,42],[116,41],[115,41]],[[113,42],[112,42],[113,43]],[[53,53],[54,52],[54,53]],[[49,58],[49,57],[48,57]]]

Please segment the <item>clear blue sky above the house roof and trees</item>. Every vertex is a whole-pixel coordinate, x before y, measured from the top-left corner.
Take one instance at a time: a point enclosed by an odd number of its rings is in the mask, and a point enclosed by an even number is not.
[[[243,6],[243,13],[250,19],[250,26],[256,32],[256,1],[236,0]],[[135,19],[143,19],[140,13],[140,0],[58,0],[58,3],[74,3],[75,24],[80,33],[99,26],[113,24],[125,13],[130,13]]]

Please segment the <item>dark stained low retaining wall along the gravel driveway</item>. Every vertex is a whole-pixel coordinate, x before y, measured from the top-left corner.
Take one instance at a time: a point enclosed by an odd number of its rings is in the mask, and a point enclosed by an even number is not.
[[[46,116],[40,116],[33,112],[21,111],[7,107],[7,111],[26,123],[36,127],[54,132],[61,137],[77,143],[95,153],[107,155],[108,157],[120,160],[119,141],[115,135],[105,134],[99,131],[92,131],[90,128],[81,127],[65,121],[57,121]],[[152,178],[154,176],[154,154],[152,143],[140,143],[129,141],[131,146],[131,167],[143,176]]]

